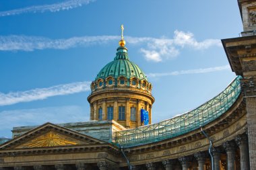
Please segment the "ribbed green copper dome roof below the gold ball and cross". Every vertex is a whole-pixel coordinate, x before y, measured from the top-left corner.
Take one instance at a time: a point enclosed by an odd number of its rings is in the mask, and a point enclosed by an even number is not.
[[[117,79],[121,76],[126,77],[127,79],[136,77],[139,80],[147,80],[145,73],[143,73],[135,63],[129,60],[127,48],[124,46],[119,46],[119,48],[117,48],[117,54],[114,60],[100,70],[95,81],[98,79],[106,79],[107,77]]]

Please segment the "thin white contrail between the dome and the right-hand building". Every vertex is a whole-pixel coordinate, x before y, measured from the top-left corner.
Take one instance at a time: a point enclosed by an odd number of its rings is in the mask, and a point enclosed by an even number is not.
[[[224,71],[230,70],[229,65],[224,65],[220,67],[210,67],[205,69],[193,69],[193,70],[185,70],[185,71],[172,71],[168,73],[148,73],[148,77],[164,77],[164,76],[175,76],[175,75],[189,75],[189,74],[200,74],[200,73],[210,73],[215,71]]]

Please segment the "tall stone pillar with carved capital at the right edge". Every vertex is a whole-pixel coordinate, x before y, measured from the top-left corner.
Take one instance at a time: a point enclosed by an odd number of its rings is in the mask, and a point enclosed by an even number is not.
[[[250,169],[256,169],[256,77],[241,80],[246,99]]]

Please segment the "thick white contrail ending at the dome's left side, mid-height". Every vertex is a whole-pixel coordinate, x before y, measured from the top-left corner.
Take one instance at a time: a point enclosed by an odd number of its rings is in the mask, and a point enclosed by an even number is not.
[[[28,91],[10,92],[7,94],[0,92],[0,106],[46,99],[48,97],[53,97],[56,95],[68,95],[89,90],[90,82],[84,81],[63,85],[55,85],[53,87],[48,88],[31,89]]]

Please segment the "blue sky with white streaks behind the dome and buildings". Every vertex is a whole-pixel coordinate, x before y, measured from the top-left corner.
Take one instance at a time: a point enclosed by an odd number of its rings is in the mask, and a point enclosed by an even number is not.
[[[153,122],[197,108],[235,78],[220,39],[242,31],[236,0],[1,1],[0,136],[13,126],[89,120],[90,82],[121,24],[148,75]]]

